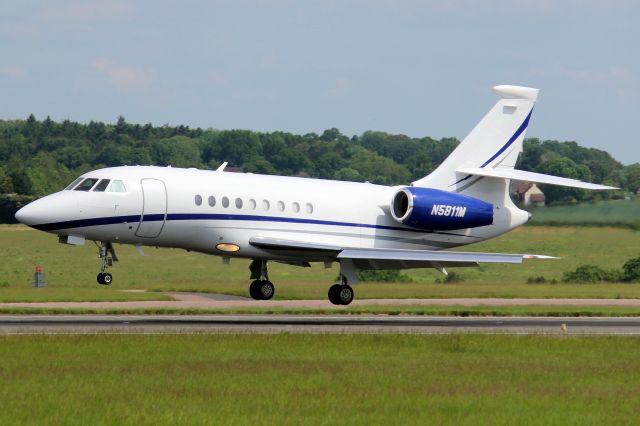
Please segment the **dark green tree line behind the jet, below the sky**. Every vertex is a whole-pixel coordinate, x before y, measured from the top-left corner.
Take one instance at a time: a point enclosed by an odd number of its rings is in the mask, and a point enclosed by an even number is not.
[[[152,164],[215,169],[223,161],[252,173],[407,184],[434,170],[458,143],[455,138],[412,138],[378,131],[348,137],[335,128],[298,135],[140,125],[123,117],[115,124],[55,122],[30,115],[26,120],[0,120],[0,194],[42,196],[100,167]],[[575,142],[527,139],[518,167],[609,184],[627,192],[640,188],[640,164],[625,167],[607,152]],[[622,194],[543,190],[550,203]]]

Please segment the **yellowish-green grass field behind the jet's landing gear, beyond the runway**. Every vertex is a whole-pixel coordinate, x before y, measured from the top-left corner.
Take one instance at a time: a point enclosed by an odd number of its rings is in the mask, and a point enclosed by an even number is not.
[[[640,232],[618,228],[524,227],[464,249],[541,253],[562,259],[458,268],[456,272],[464,281],[455,284],[434,284],[441,275],[433,270],[410,270],[406,273],[413,279],[412,283],[359,284],[356,295],[359,298],[640,298],[640,285],[635,284],[526,284],[528,277],[540,275],[559,279],[563,272],[585,263],[605,269],[620,268],[627,259],[640,256]],[[242,296],[248,293],[249,262],[246,260],[232,260],[231,265],[222,265],[217,257],[176,249],[145,248],[144,257],[131,246],[116,246],[116,250],[121,261],[110,270],[114,274],[114,284],[103,288],[95,283],[99,260],[91,243],[83,247],[61,245],[54,236],[24,226],[0,226],[0,301],[158,297],[118,291],[124,289],[193,290]],[[43,267],[49,283],[47,289],[30,288],[35,265]],[[276,298],[280,299],[324,299],[329,283],[337,274],[337,267],[298,268],[270,264],[270,277],[276,284]]]

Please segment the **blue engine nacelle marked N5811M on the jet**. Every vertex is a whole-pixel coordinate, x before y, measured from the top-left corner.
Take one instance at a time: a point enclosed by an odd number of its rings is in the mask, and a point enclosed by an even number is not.
[[[493,204],[438,189],[406,187],[394,194],[391,216],[429,231],[475,228],[493,223]]]

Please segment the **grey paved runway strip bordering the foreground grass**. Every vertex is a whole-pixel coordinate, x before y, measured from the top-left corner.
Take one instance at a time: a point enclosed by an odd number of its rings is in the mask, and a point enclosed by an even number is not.
[[[381,315],[1,315],[0,334],[505,333],[640,335],[640,318]]]

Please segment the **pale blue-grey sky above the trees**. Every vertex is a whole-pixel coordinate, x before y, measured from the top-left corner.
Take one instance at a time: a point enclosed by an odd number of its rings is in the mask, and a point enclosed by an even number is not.
[[[527,137],[640,162],[640,2],[30,1],[0,14],[0,119],[463,138],[490,88]]]

